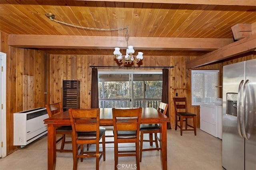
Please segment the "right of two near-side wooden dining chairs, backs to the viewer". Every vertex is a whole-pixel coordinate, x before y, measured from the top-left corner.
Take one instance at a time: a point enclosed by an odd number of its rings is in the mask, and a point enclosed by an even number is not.
[[[118,169],[118,156],[136,156],[136,168],[140,170],[139,145],[142,108],[112,109],[114,123],[114,160]],[[135,143],[135,150],[119,150],[119,143]]]

